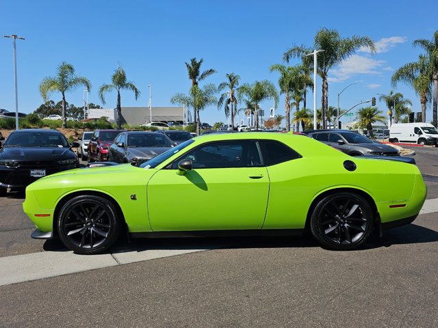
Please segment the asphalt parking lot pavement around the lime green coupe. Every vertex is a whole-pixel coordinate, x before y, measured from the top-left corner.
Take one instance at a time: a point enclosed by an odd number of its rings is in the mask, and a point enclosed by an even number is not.
[[[11,194],[0,272],[6,261],[29,272],[0,277],[0,327],[438,327],[438,149],[413,149],[429,210],[358,251],[310,237],[123,239],[112,254],[74,256],[31,239],[24,196]]]

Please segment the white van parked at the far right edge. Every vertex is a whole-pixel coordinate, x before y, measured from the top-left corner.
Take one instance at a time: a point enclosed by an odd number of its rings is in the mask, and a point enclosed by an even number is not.
[[[415,142],[437,146],[438,131],[429,123],[397,123],[389,128],[390,142]]]

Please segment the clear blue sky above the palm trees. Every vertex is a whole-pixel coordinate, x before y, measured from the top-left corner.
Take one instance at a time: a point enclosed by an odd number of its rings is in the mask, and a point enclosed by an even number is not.
[[[38,84],[55,73],[62,61],[73,64],[77,74],[92,83],[90,102],[99,103],[97,90],[109,83],[122,64],[142,95],[136,101],[122,94],[123,106],[146,106],[148,83],[153,106],[170,105],[170,97],[188,92],[190,81],[184,61],[204,58],[204,68],[217,73],[208,83],[216,85],[227,72],[240,74],[242,82],[270,79],[269,66],[281,63],[292,44],[313,43],[321,27],[339,30],[342,36],[367,35],[378,42],[378,53],[360,51],[329,72],[329,105],[337,105],[337,92],[358,82],[342,94],[346,109],[360,100],[391,90],[394,69],[414,61],[420,50],[411,43],[432,38],[438,29],[436,1],[16,1],[2,0],[0,33],[24,36],[17,42],[19,109],[29,113],[42,99]],[[0,108],[14,110],[12,40],[0,40]],[[320,103],[318,79],[318,104]],[[420,100],[410,87],[397,90],[413,101]],[[67,95],[79,106],[82,89]],[[307,107],[312,107],[309,92]],[[60,100],[53,94],[53,100]],[[107,96],[105,107],[114,107],[116,95]],[[268,109],[271,102],[261,104]],[[319,106],[319,105],[318,105]],[[383,103],[378,103],[386,113]],[[431,118],[430,106],[427,119]],[[278,113],[284,113],[281,96]],[[224,121],[216,107],[201,113],[203,122]]]

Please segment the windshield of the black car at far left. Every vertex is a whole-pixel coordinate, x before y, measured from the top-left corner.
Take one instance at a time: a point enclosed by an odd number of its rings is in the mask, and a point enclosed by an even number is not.
[[[12,133],[5,147],[70,147],[61,133],[19,132]]]

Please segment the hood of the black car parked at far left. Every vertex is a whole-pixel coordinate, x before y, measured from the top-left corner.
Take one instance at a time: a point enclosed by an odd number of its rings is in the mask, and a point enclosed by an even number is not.
[[[70,148],[5,147],[0,150],[0,159],[9,161],[60,161],[75,158],[76,155]]]

